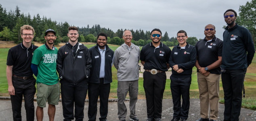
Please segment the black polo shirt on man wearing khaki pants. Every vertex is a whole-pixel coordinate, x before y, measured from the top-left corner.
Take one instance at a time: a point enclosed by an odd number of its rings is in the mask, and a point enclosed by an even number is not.
[[[201,67],[207,67],[218,60],[218,56],[222,56],[222,43],[219,38],[214,38],[212,41],[207,42],[206,38],[199,40],[195,44],[197,50],[197,60]],[[197,72],[198,69],[197,69]],[[209,70],[212,74],[220,74],[220,67]]]

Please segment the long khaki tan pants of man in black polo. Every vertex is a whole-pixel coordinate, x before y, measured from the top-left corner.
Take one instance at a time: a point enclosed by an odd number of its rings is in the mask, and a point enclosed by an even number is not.
[[[219,112],[220,75],[210,73],[205,77],[201,73],[197,72],[197,82],[200,94],[201,118],[209,118],[210,104],[210,119],[217,120]]]

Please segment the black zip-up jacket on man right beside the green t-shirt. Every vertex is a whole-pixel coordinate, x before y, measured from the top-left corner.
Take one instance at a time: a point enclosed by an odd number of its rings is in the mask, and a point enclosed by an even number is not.
[[[59,77],[74,85],[78,84],[80,81],[88,81],[86,76],[90,76],[90,69],[92,67],[92,58],[88,48],[81,43],[77,44],[77,50],[73,50],[76,51],[75,55],[73,52],[70,52],[63,60],[65,54],[72,49],[71,44],[67,43],[59,48],[57,58]]]

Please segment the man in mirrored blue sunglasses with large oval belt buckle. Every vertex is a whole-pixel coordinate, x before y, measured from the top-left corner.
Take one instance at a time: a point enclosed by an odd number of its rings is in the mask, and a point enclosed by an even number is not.
[[[147,121],[161,121],[162,100],[166,83],[166,71],[171,50],[160,42],[162,32],[151,31],[152,42],[141,49],[141,64],[144,66],[143,87],[147,101]]]

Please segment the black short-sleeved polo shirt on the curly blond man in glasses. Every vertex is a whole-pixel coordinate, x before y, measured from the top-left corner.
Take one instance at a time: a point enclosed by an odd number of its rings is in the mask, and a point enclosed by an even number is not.
[[[13,74],[20,77],[29,77],[33,75],[31,70],[31,61],[33,52],[38,46],[31,44],[29,48],[26,48],[23,43],[18,44],[10,48],[7,56],[8,66],[13,66]]]

